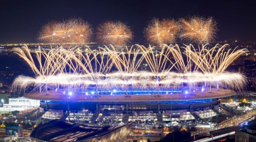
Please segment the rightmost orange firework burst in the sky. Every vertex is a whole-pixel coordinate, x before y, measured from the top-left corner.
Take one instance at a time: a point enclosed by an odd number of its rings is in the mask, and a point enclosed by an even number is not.
[[[210,43],[214,40],[217,32],[217,23],[212,18],[190,17],[181,18],[182,32],[181,38],[185,38],[197,43]]]

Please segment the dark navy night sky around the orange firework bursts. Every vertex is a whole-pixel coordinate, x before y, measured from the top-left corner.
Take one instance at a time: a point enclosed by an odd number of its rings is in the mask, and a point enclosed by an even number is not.
[[[150,1],[150,0],[1,0],[0,43],[36,42],[51,20],[81,17],[96,27],[105,20],[122,20],[132,27],[134,44],[144,44],[143,29],[154,18],[212,16],[218,23],[216,41],[256,41],[253,1]]]

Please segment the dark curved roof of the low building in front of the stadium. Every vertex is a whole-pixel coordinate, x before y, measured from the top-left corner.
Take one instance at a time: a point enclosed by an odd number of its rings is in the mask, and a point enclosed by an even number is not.
[[[32,131],[30,137],[51,142],[84,141],[104,136],[130,123],[114,127],[109,125],[105,127],[98,127],[55,119],[48,123],[38,125],[35,130]]]

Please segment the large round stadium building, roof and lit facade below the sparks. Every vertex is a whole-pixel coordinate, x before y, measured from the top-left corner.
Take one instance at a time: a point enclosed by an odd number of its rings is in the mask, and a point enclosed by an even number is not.
[[[126,96],[118,94],[117,91],[115,94],[100,96],[81,93],[67,95],[63,92],[68,90],[63,89],[48,91],[47,95],[45,92],[28,93],[25,97],[41,100],[40,111],[43,114],[41,118],[45,120],[61,119],[83,124],[112,126],[136,121],[138,124],[152,128],[172,125],[171,122],[175,121],[203,123],[202,120],[221,115],[218,96],[227,97],[235,94],[228,89],[211,88],[212,92],[209,93],[207,92],[209,88],[206,88],[204,92],[193,91],[193,94],[186,94],[186,90],[187,87],[183,87],[179,93],[175,93],[179,98],[173,93],[161,96],[143,93]],[[116,100],[104,99],[111,97],[116,97]],[[151,97],[153,100],[150,99]],[[122,98],[123,101],[119,101]],[[164,99],[166,101],[163,101]]]

